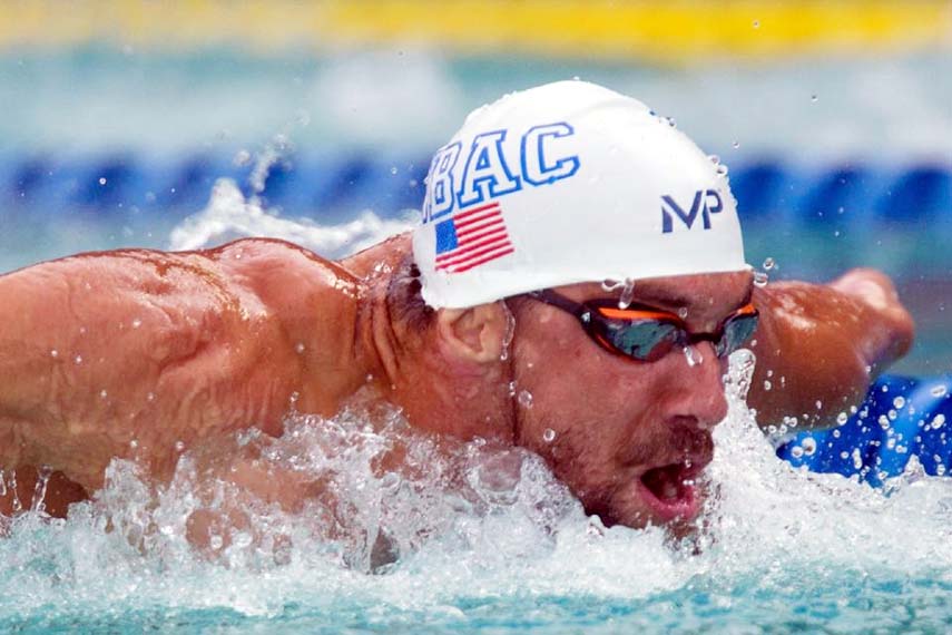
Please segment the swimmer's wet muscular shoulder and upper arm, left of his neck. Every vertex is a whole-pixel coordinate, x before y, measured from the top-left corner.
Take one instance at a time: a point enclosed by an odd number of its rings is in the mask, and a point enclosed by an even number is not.
[[[347,341],[347,289],[325,261],[266,241],[85,254],[0,276],[0,468],[49,466],[94,491],[114,457],[160,477],[179,442],[279,433],[294,392],[308,411],[332,410],[325,393],[338,387],[302,378],[349,356],[315,344],[321,328]]]

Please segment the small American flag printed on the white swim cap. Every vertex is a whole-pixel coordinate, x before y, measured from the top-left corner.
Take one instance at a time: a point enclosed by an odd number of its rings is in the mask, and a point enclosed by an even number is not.
[[[499,203],[461,209],[435,231],[436,271],[462,273],[516,251]]]

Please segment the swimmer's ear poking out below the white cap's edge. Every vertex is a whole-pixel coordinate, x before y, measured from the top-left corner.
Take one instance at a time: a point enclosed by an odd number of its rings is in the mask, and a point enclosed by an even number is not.
[[[509,329],[509,311],[502,302],[470,309],[441,309],[436,331],[445,350],[457,359],[477,363],[499,360]]]

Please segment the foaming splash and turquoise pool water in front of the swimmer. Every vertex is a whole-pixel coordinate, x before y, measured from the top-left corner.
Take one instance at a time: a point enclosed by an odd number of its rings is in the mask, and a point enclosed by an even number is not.
[[[504,453],[518,459],[512,478],[487,478],[499,473],[498,450],[477,441],[440,453],[396,412],[383,423],[360,412],[300,414],[263,460],[331,475],[338,509],[350,512],[347,531],[328,537],[316,507],[297,517],[253,507],[252,529],[199,555],[185,538],[185,517],[234,494],[202,480],[196,466],[214,457],[187,450],[173,482],[156,492],[135,465],[115,462],[98,500],[75,507],[69,520],[28,514],[9,527],[0,541],[0,629],[952,627],[952,481],[910,472],[873,489],[779,461],[739,397],[752,361],[746,351],[732,359],[730,413],[707,470],[711,496],[688,538],[606,529],[528,453]],[[261,442],[245,434],[223,451]],[[426,469],[374,476],[373,458],[394,442]],[[454,473],[463,495],[448,485]],[[381,535],[396,559],[373,554]]]

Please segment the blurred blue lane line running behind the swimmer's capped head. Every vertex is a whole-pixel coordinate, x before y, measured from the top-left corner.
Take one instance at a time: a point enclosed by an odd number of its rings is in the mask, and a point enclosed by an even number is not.
[[[379,215],[416,208],[429,167],[425,156],[304,153],[272,167],[264,192],[269,207],[291,214],[320,211],[343,219],[363,208]],[[158,159],[136,153],[86,156],[0,154],[0,208],[8,214],[69,214],[87,209],[110,216],[135,206],[144,213],[204,207],[219,177],[249,194],[251,165],[222,153]],[[840,163],[806,168],[749,157],[730,170],[744,222],[836,228],[920,226],[952,233],[952,164],[916,162],[884,166]],[[343,214],[341,218],[328,218]]]

